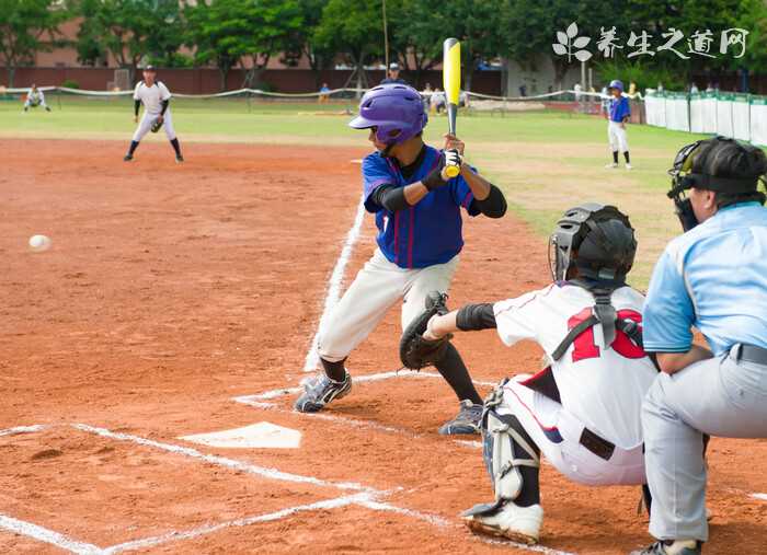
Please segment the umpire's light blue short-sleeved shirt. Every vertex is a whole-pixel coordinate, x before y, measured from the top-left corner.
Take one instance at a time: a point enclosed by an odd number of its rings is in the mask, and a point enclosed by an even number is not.
[[[719,210],[663,252],[644,302],[644,348],[685,352],[695,326],[719,356],[743,343],[767,348],[767,208]]]

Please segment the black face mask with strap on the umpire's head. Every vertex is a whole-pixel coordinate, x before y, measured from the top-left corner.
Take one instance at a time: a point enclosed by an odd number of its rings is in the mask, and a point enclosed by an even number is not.
[[[667,196],[674,200],[675,212],[682,222],[682,229],[685,231],[691,230],[699,223],[692,210],[692,203],[685,193],[686,190],[692,187],[721,193],[748,193],[756,190],[758,182],[756,177],[728,178],[692,172],[692,165],[696,158],[700,154],[702,143],[708,143],[712,140],[732,141],[733,139],[717,137],[687,144],[676,153],[674,165],[668,170],[668,175],[672,176],[672,188]]]

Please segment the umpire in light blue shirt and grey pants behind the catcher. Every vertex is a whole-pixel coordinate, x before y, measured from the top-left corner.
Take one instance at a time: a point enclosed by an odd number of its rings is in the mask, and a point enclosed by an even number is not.
[[[767,438],[765,172],[760,149],[723,137],[685,147],[669,170],[686,233],[666,246],[644,305],[644,348],[662,372],[642,408],[659,540],[643,555],[695,555],[708,540],[703,435]]]

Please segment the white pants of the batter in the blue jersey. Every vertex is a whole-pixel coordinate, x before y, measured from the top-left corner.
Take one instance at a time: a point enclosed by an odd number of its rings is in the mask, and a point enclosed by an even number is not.
[[[400,268],[376,248],[320,331],[320,357],[329,362],[345,359],[400,299],[404,329],[424,310],[430,291],[447,292],[457,267],[458,256],[426,268]]]

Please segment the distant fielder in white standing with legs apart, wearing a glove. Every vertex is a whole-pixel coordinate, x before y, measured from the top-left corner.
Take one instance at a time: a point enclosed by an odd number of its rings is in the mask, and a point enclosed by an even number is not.
[[[147,66],[144,69],[144,81],[139,81],[134,90],[134,122],[138,123],[134,138],[130,141],[126,162],[134,159],[134,152],[138,147],[139,141],[147,135],[156,122],[162,122],[162,128],[165,130],[165,137],[171,141],[175,151],[175,161],[183,162],[184,157],[181,155],[181,146],[173,130],[173,117],[171,115],[170,102],[171,92],[162,81],[157,81],[157,72],[152,66]],[[144,117],[138,120],[138,108],[144,104]]]

